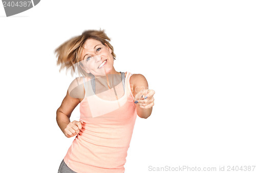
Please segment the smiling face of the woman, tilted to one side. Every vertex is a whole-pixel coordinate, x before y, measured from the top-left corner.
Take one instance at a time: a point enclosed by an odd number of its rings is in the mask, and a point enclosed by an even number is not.
[[[94,76],[105,76],[113,71],[114,58],[107,45],[102,45],[99,40],[89,38],[83,45],[80,62],[87,73]]]

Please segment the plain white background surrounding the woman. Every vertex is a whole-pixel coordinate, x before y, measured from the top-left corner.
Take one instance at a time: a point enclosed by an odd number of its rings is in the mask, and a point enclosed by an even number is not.
[[[156,92],[152,115],[137,117],[125,173],[255,165],[255,6],[41,1],[10,17],[0,7],[1,171],[57,172],[75,137],[56,123],[73,77],[59,73],[54,50],[100,28],[112,38],[116,70],[143,74]]]

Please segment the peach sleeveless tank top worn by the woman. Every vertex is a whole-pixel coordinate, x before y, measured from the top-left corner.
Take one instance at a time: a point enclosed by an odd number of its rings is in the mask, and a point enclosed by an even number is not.
[[[127,72],[125,80],[116,86],[124,87],[125,90],[124,95],[114,101],[96,96],[94,82],[83,77],[86,96],[80,102],[82,129],[63,159],[75,172],[124,172],[125,158],[137,117],[130,87],[131,76]],[[106,92],[113,92],[112,89]]]

